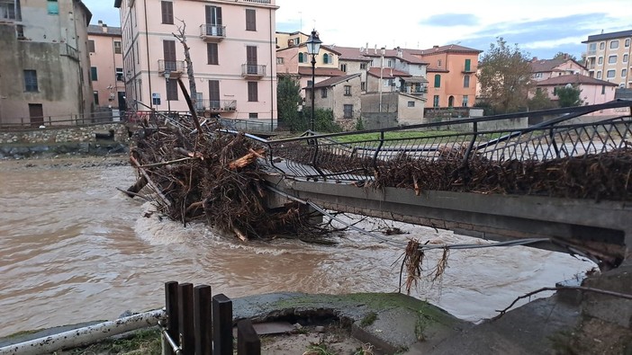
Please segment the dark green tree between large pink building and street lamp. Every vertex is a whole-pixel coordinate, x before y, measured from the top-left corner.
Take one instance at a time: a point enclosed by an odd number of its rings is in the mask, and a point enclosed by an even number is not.
[[[306,129],[307,124],[303,122],[301,112],[298,111],[302,102],[301,84],[298,80],[290,76],[281,76],[276,84],[276,97],[279,126],[293,132]]]

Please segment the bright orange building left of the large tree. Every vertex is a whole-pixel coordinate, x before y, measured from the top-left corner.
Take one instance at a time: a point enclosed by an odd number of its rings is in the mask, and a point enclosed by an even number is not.
[[[429,63],[429,107],[474,106],[478,82],[475,74],[482,50],[450,44],[404,51]]]

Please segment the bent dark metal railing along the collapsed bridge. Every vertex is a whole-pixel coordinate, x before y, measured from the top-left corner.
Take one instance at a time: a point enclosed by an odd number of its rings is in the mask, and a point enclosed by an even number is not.
[[[410,159],[451,159],[465,166],[473,159],[502,163],[617,154],[632,148],[632,118],[629,113],[591,123],[571,122],[592,111],[630,105],[632,102],[617,101],[405,128],[328,135],[312,135],[313,132],[309,132],[301,138],[259,141],[269,149],[267,164],[285,176],[358,181],[371,179],[383,169],[396,168]],[[527,115],[560,116],[522,129],[478,129],[481,122],[511,120]],[[447,130],[448,125],[459,123],[471,123],[473,129],[468,132]]]

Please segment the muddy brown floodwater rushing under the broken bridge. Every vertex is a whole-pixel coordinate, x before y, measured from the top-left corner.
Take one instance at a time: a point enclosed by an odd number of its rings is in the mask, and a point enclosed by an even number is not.
[[[116,189],[135,179],[130,166],[90,167],[79,158],[0,162],[0,336],[159,308],[171,280],[211,285],[213,294],[228,297],[398,288],[401,247],[355,231],[337,236],[335,246],[283,239],[244,244],[205,226],[145,217],[148,202]],[[406,234],[388,237],[402,242],[486,243],[377,219],[358,226],[377,234],[399,227]],[[428,252],[426,267],[441,253]],[[421,282],[411,296],[479,321],[593,266],[523,246],[455,250],[442,279]]]

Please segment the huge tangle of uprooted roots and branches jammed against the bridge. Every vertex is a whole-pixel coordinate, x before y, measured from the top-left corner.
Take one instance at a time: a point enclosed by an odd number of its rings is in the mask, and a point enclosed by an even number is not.
[[[149,185],[160,213],[183,224],[202,220],[242,240],[284,235],[310,241],[327,235],[298,203],[266,207],[257,169],[265,149],[243,134],[218,131],[217,124],[204,126],[203,136],[185,133],[194,129],[183,129],[185,124],[148,124],[139,132],[130,158],[140,176],[131,194]]]

